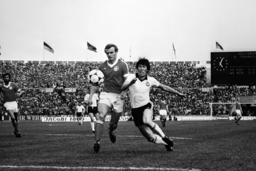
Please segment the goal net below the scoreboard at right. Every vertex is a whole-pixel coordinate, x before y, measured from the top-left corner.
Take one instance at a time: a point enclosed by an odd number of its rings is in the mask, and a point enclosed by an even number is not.
[[[255,116],[256,115],[256,102],[240,102],[242,108],[242,116]],[[213,118],[226,119],[229,116],[235,116],[233,106],[235,102],[211,102],[210,115]]]

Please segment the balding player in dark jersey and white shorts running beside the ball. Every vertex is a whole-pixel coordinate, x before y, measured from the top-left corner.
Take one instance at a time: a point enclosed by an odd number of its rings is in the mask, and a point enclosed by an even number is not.
[[[105,47],[105,53],[108,60],[99,66],[99,70],[104,74],[104,90],[100,93],[98,114],[96,114],[96,125],[95,125],[95,144],[93,149],[95,152],[99,152],[100,149],[100,138],[103,134],[103,127],[106,115],[111,110],[111,119],[108,126],[109,139],[115,143],[116,134],[115,131],[120,116],[123,112],[123,100],[126,95],[126,91],[121,91],[121,87],[129,75],[128,65],[117,58],[118,48],[114,44],[108,44]],[[92,96],[97,87],[92,86],[88,104],[92,104]]]

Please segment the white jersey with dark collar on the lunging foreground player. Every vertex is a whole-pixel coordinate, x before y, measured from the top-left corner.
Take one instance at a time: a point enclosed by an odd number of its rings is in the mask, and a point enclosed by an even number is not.
[[[131,108],[138,108],[150,102],[149,92],[151,87],[158,87],[160,83],[150,76],[146,76],[145,80],[140,81],[136,74],[130,74],[127,77],[127,81],[131,81],[134,78],[137,81],[129,87],[130,104]]]

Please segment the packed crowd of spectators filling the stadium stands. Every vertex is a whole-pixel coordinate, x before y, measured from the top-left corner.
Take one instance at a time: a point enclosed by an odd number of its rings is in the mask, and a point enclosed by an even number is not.
[[[136,72],[135,64],[128,63],[131,73]],[[0,63],[1,75],[11,73],[12,82],[16,83],[23,91],[18,99],[21,115],[63,115],[74,114],[75,102],[83,101],[90,86],[87,81],[89,71],[97,69],[99,63],[74,63],[74,64],[36,64],[36,63]],[[160,83],[179,89],[187,98],[169,94],[160,89],[151,90],[151,101],[154,104],[154,113],[157,114],[158,101],[165,96],[168,101],[169,111],[172,115],[209,115],[210,102],[214,100],[212,89],[206,88],[206,67],[196,67],[195,64],[163,64],[151,65],[150,76]],[[41,88],[76,88],[76,92],[67,92],[66,103],[54,92],[44,92]],[[97,91],[103,90],[101,85]],[[217,102],[234,102],[235,95],[256,95],[254,86],[238,88],[227,86],[215,89],[218,93]],[[0,96],[1,103],[3,101]],[[224,108],[219,105],[218,108]],[[3,111],[3,106],[0,105]],[[219,109],[221,112],[222,109]],[[129,96],[124,103],[124,115],[130,115]],[[249,112],[248,112],[249,113]],[[251,114],[253,115],[253,114]]]

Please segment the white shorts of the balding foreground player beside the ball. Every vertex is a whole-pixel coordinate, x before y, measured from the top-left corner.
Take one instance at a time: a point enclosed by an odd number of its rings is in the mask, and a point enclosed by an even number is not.
[[[99,96],[99,104],[106,104],[113,107],[117,113],[123,112],[124,101],[121,99],[121,94],[113,92],[101,92]]]

